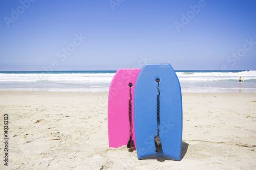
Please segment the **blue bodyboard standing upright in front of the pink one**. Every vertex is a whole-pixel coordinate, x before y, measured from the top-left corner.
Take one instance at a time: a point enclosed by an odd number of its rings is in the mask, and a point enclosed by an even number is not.
[[[162,150],[155,152],[157,135],[156,79],[160,79],[159,137]],[[138,159],[165,157],[180,160],[182,147],[182,98],[179,79],[170,64],[145,64],[134,94],[134,128]]]

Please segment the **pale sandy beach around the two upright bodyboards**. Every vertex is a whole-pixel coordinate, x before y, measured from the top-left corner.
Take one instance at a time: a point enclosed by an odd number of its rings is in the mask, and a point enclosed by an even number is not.
[[[181,161],[109,148],[106,92],[1,91],[0,98],[0,169],[256,168],[256,93],[183,93]]]

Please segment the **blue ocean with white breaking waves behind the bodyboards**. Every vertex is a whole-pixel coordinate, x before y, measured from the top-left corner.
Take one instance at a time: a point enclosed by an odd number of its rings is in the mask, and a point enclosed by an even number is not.
[[[108,92],[116,71],[0,71],[1,91]],[[256,92],[256,70],[178,70],[182,92]],[[239,83],[239,78],[245,81]]]

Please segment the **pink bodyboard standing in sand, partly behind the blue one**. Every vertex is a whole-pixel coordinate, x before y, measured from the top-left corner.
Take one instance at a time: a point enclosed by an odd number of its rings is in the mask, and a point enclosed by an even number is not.
[[[134,88],[137,77],[141,69],[120,68],[117,70],[109,90],[108,102],[108,130],[109,130],[109,147],[118,148],[127,145],[130,139],[130,123],[129,123],[129,99],[130,87],[132,83],[132,138],[134,143]],[[134,146],[135,148],[135,146]]]

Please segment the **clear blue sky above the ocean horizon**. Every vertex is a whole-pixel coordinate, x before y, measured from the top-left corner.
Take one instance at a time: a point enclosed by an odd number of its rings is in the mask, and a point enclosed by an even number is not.
[[[0,71],[256,69],[256,1],[0,1]]]

